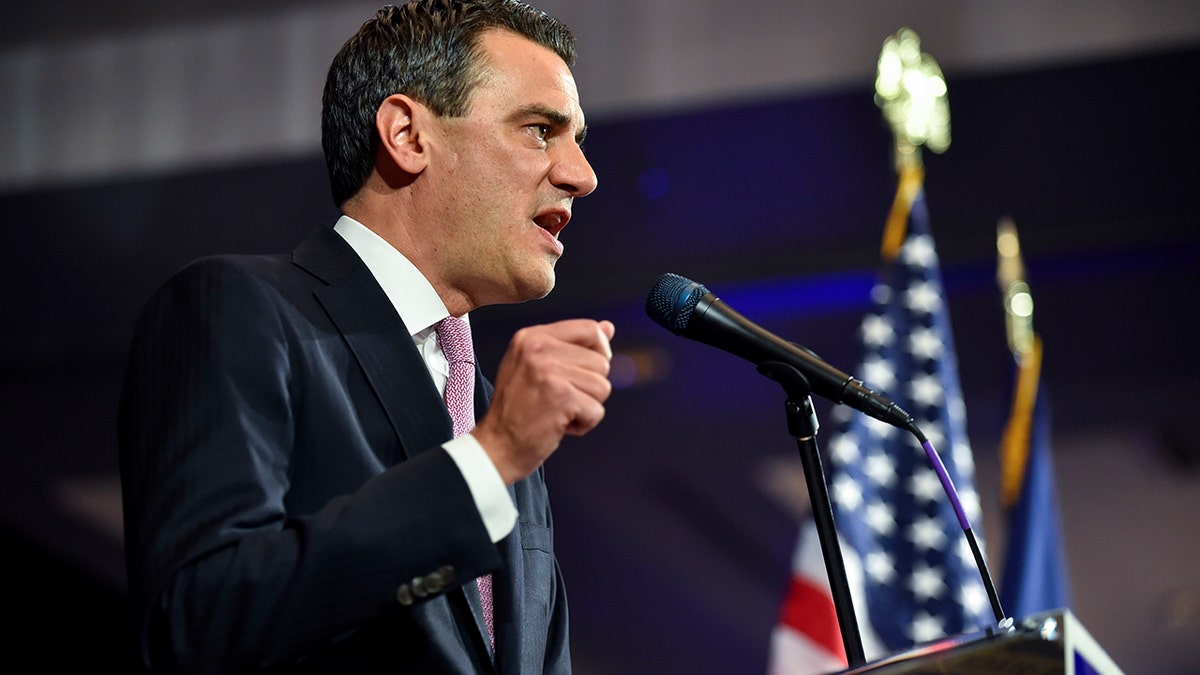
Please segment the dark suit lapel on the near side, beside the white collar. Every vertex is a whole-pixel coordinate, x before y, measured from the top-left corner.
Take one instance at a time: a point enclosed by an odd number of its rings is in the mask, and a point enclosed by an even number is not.
[[[346,339],[400,442],[402,458],[449,441],[450,414],[413,339],[344,239],[325,228],[306,239],[293,262],[326,285],[314,291]]]

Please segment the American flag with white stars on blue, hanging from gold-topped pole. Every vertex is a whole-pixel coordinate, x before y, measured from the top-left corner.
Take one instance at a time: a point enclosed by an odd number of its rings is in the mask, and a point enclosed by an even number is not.
[[[913,416],[938,450],[967,518],[978,521],[954,342],[920,189],[904,244],[871,293],[856,376]],[[970,545],[922,447],[910,434],[845,406],[834,408],[833,422],[822,448],[826,477],[868,659],[990,626]],[[815,530],[805,527],[773,637],[773,673],[828,671],[838,669],[839,657],[845,664],[840,635],[827,629],[836,626],[828,587]],[[824,626],[823,634],[814,626]]]

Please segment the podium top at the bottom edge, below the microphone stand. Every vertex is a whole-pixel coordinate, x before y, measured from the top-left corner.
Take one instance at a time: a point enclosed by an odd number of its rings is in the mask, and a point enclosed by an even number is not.
[[[1007,631],[948,638],[842,670],[841,675],[1122,675],[1068,610],[1036,614]]]

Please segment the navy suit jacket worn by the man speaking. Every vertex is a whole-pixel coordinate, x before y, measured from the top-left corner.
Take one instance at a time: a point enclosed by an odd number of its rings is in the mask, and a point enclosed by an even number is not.
[[[476,416],[490,395],[476,375]],[[518,521],[494,544],[450,437],[407,328],[332,229],[290,257],[185,268],[138,321],[119,414],[143,658],[173,673],[569,671],[541,470],[514,486]]]

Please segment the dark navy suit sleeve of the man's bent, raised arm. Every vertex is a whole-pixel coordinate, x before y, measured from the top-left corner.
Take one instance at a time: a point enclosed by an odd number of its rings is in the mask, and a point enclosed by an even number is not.
[[[119,414],[130,590],[143,658],[172,671],[286,663],[404,611],[401,585],[427,581],[420,603],[500,563],[440,448],[289,507],[304,353],[276,291],[210,259],[136,330]]]

